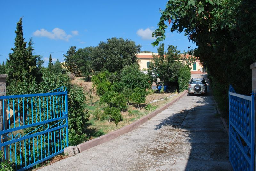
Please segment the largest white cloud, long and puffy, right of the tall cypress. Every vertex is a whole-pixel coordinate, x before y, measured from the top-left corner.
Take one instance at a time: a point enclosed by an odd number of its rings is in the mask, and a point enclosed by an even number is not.
[[[34,36],[38,36],[38,37],[48,37],[50,39],[60,39],[60,40],[65,40],[65,41],[68,41],[69,38],[72,37],[72,35],[70,34],[66,34],[66,32],[62,29],[59,29],[59,28],[54,28],[52,30],[52,32],[48,32],[47,30],[45,29],[40,29],[40,30],[36,30],[34,33],[33,33]]]

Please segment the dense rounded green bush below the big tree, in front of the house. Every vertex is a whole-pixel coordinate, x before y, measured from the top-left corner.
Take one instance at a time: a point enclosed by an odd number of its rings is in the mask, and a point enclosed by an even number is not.
[[[120,80],[129,89],[135,89],[136,87],[150,89],[152,85],[150,76],[143,74],[138,64],[125,66],[121,71]]]

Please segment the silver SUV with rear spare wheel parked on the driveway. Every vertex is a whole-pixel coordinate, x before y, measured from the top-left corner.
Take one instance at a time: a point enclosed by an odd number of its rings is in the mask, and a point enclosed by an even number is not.
[[[188,96],[192,94],[207,96],[207,83],[204,78],[192,78],[188,85]]]

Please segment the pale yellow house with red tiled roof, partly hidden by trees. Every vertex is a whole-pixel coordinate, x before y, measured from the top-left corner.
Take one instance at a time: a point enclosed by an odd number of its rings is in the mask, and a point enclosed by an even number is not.
[[[148,69],[150,61],[153,60],[153,55],[158,56],[158,53],[138,53],[137,58],[140,61],[140,70]],[[191,55],[186,55],[185,57],[188,58]],[[201,73],[204,70],[203,65],[201,64],[200,60],[196,60],[193,65],[190,66],[191,73]]]

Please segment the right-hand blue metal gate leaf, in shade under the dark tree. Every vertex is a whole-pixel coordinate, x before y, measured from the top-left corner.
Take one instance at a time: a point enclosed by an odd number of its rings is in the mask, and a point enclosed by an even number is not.
[[[229,160],[235,171],[254,171],[254,94],[229,87]]]

